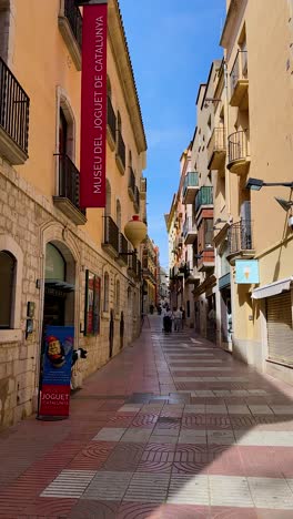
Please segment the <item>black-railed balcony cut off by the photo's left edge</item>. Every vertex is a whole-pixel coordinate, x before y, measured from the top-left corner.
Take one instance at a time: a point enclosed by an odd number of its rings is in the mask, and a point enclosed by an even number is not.
[[[0,155],[11,164],[28,159],[30,100],[0,58]]]

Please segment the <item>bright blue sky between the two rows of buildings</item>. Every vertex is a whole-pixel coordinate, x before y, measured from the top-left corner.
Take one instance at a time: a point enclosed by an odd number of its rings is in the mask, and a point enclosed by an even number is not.
[[[120,0],[148,141],[148,227],[168,265],[163,214],[195,125],[195,99],[219,47],[225,0]]]

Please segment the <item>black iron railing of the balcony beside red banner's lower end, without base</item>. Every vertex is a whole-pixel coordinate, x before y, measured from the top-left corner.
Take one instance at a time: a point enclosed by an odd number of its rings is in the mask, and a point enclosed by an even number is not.
[[[80,207],[80,173],[75,164],[68,155],[58,154],[59,160],[59,196],[70,200],[70,202],[82,214],[85,208]]]

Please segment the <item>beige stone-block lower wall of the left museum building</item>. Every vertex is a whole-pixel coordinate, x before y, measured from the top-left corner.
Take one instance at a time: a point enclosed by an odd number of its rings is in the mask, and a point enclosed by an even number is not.
[[[75,339],[74,347],[88,350],[87,360],[80,362],[82,377],[95,372],[109,359],[109,316],[102,314],[101,332],[97,337],[84,337],[85,269],[103,278],[110,275],[110,307],[114,307],[114,281],[120,279],[120,312],[124,311],[124,346],[140,332],[135,301],[140,287],[128,277],[127,268],[119,267],[89,236],[75,227],[51,203],[50,197],[38,193],[6,162],[0,163],[0,238],[10,235],[23,253],[20,295],[20,329],[0,330],[0,427],[14,424],[29,416],[36,405],[39,385],[40,337],[43,308],[44,247],[48,241],[63,241],[74,256],[75,264]],[[37,279],[40,288],[37,288]],[[131,299],[128,287],[131,286]],[[103,285],[102,285],[103,288]],[[135,293],[135,295],[134,295]],[[101,291],[102,296],[102,291]],[[26,339],[27,303],[36,303],[33,333]],[[127,308],[131,305],[131,312]],[[114,322],[113,356],[120,350],[120,312]],[[8,337],[8,338],[7,338]],[[17,339],[16,339],[16,338]]]

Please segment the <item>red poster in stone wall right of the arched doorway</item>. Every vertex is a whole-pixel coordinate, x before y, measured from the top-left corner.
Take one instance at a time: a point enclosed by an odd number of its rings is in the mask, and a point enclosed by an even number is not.
[[[84,335],[98,335],[100,333],[100,277],[87,271]]]

